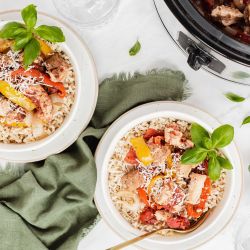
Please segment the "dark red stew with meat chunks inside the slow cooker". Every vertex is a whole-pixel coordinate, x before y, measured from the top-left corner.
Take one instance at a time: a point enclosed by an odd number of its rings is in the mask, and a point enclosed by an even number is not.
[[[192,0],[198,11],[240,42],[250,44],[250,0]]]

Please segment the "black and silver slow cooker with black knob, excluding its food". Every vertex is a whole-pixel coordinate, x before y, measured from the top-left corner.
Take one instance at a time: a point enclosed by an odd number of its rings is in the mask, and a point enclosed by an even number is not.
[[[204,68],[226,80],[250,85],[250,45],[226,35],[190,0],[154,0],[168,33],[194,70]]]

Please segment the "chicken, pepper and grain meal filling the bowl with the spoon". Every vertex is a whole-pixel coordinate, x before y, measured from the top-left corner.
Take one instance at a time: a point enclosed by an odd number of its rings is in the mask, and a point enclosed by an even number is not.
[[[116,209],[135,228],[185,230],[222,199],[224,170],[212,180],[207,159],[181,163],[184,152],[194,146],[190,129],[186,121],[155,118],[138,124],[117,143],[108,166],[109,192]]]

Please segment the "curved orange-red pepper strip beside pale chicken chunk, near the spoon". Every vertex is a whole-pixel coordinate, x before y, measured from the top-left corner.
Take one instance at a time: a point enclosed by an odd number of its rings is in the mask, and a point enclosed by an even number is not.
[[[200,203],[197,205],[186,204],[186,209],[189,216],[191,216],[194,219],[197,219],[202,215],[203,209],[205,208],[206,201],[208,199],[210,192],[211,192],[211,180],[209,177],[207,177],[201,192]]]

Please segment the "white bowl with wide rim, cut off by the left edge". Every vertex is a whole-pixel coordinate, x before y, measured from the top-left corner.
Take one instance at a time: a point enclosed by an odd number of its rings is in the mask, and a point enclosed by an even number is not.
[[[9,21],[21,21],[20,10],[0,13],[0,27]],[[67,24],[44,13],[38,13],[38,25],[61,27],[66,42],[63,49],[71,58],[76,74],[74,105],[63,124],[50,136],[28,144],[0,143],[0,159],[11,162],[32,162],[57,154],[69,147],[88,125],[98,96],[98,80],[93,58],[80,36]]]

